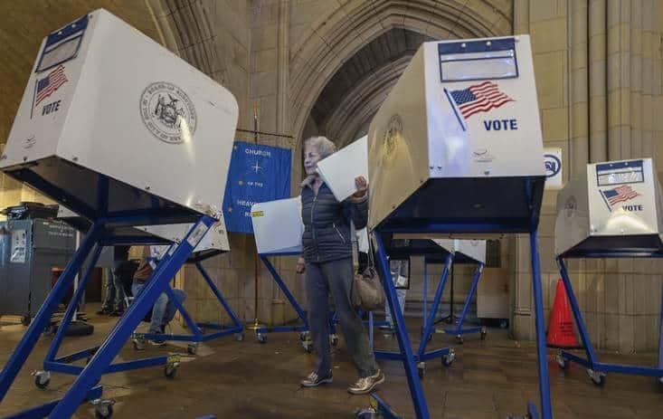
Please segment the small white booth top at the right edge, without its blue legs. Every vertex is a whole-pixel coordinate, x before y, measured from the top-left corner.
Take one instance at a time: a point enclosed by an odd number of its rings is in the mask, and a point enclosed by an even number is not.
[[[555,253],[663,250],[663,202],[651,158],[587,165],[557,195]]]

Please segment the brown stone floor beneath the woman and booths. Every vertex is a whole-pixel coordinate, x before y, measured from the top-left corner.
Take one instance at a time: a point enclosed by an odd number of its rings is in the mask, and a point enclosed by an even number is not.
[[[105,336],[114,319],[94,318],[95,334],[69,338],[61,353],[91,346]],[[418,330],[412,324],[412,330]],[[0,365],[23,333],[18,325],[0,329]],[[378,334],[380,347],[393,347],[395,340]],[[453,344],[454,339],[436,335],[430,348]],[[53,375],[46,390],[33,386],[30,372],[39,369],[49,344],[42,338],[0,405],[0,416],[62,396],[71,376]],[[120,358],[132,359],[166,352],[185,353],[185,347],[148,347],[136,352],[127,345]],[[538,403],[534,348],[507,339],[506,331],[489,329],[488,338],[466,338],[456,346],[451,367],[438,361],[428,363],[424,388],[435,418],[505,418],[523,414],[528,400]],[[552,355],[552,353],[551,353]],[[601,354],[603,359],[652,365],[653,354]],[[552,359],[552,357],[551,357]],[[355,379],[342,347],[336,351],[334,383],[316,389],[301,389],[298,380],[313,366],[313,356],[304,352],[295,334],[272,334],[261,345],[251,334],[242,342],[226,338],[203,345],[196,357],[185,357],[174,380],[166,379],[161,367],[119,373],[102,378],[104,396],[117,400],[114,418],[195,418],[216,414],[219,418],[351,418],[365,407],[367,396],[352,396],[346,386]],[[413,417],[403,367],[382,362],[387,381],[380,395],[405,417]],[[572,366],[562,371],[550,362],[554,417],[557,419],[639,418],[659,419],[663,412],[663,389],[649,377],[608,376],[603,387],[593,386],[584,370]],[[74,417],[94,417],[83,405]]]

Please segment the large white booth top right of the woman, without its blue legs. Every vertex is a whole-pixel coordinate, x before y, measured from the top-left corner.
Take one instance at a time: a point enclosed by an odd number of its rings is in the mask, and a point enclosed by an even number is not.
[[[369,129],[371,228],[528,216],[518,180],[545,175],[530,51],[528,36],[422,44]]]

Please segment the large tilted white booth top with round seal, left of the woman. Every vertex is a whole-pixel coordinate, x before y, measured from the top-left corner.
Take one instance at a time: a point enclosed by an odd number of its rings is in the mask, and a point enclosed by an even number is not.
[[[0,168],[88,218],[99,205],[217,214],[237,116],[230,91],[98,10],[44,39]]]

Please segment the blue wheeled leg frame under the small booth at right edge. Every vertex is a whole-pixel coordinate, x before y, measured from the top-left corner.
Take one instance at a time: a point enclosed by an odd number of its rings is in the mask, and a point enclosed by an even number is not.
[[[573,255],[566,255],[565,257],[574,257]],[[580,257],[580,256],[579,256]],[[582,257],[588,257],[586,254],[583,254]],[[593,258],[607,258],[607,257],[636,257],[633,255],[624,255],[622,253],[615,255],[611,252],[604,253],[593,253]],[[661,257],[649,255],[647,257]],[[596,352],[592,345],[592,340],[587,331],[587,326],[582,319],[582,312],[580,310],[580,305],[578,300],[575,297],[573,292],[573,284],[569,278],[569,272],[566,269],[566,263],[564,263],[564,257],[558,256],[556,258],[557,266],[559,267],[560,275],[562,276],[562,281],[564,281],[564,289],[566,291],[566,296],[569,298],[571,303],[571,309],[573,311],[573,318],[575,319],[575,324],[578,327],[580,332],[580,338],[582,339],[582,345],[585,351],[586,358],[578,357],[569,351],[562,350],[559,352],[559,355],[564,359],[565,362],[575,362],[580,364],[583,367],[591,369],[594,372],[599,373],[619,373],[619,374],[629,374],[633,376],[654,376],[659,380],[663,379],[663,295],[661,295],[661,306],[660,306],[660,315],[659,315],[659,332],[658,332],[658,367],[639,367],[639,366],[630,366],[630,365],[620,365],[620,364],[606,364],[599,362]],[[602,384],[596,382],[596,384]],[[663,384],[663,381],[661,381]]]

